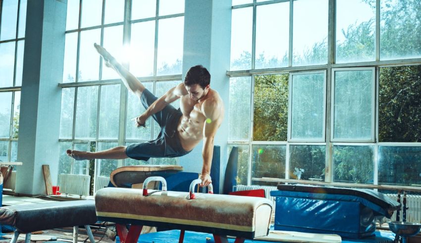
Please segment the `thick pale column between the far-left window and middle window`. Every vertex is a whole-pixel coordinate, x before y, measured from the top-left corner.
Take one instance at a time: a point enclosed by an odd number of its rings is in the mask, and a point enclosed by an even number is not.
[[[66,0],[28,0],[16,193],[45,194],[42,165],[56,184]]]

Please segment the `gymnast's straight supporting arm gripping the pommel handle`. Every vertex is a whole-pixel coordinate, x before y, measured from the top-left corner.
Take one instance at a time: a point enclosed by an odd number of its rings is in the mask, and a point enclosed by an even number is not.
[[[211,165],[213,157],[214,137],[216,135],[216,131],[222,123],[223,108],[218,102],[206,100],[203,104],[202,110],[206,120],[203,129],[203,166],[200,179],[202,179],[201,186],[206,187],[212,182]]]

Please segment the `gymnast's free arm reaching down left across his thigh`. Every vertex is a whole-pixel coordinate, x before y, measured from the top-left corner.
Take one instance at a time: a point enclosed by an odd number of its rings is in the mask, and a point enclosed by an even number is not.
[[[145,112],[143,112],[140,116],[136,118],[136,125],[143,126],[146,122],[146,119],[148,119],[153,114],[161,111],[163,108],[165,108],[165,106],[174,102],[181,96],[185,95],[185,93],[187,93],[187,91],[186,91],[186,88],[184,88],[183,83],[177,85],[176,87],[171,88],[163,96],[155,100],[148,107],[148,109],[145,110]]]

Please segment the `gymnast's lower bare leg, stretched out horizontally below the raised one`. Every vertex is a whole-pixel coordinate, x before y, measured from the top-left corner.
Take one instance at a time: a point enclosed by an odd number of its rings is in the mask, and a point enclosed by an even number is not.
[[[67,155],[73,157],[76,160],[84,159],[125,159],[128,158],[126,155],[126,146],[113,147],[104,151],[88,152],[67,149]]]

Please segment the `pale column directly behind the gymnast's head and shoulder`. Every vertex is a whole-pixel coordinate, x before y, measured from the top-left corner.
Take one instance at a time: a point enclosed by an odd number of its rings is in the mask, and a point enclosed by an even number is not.
[[[190,67],[202,64],[211,73],[211,89],[216,90],[225,105],[225,116],[215,137],[221,147],[221,168],[227,163],[228,92],[231,48],[231,0],[186,0],[184,16],[183,79]],[[185,171],[201,172],[202,146],[180,157]],[[222,185],[223,175],[220,176]]]

